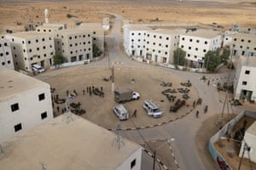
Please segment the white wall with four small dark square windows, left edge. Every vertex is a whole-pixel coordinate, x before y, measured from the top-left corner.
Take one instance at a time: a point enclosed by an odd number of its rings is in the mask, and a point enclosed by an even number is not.
[[[44,86],[45,87],[45,86]],[[38,99],[44,94],[44,99]],[[19,109],[12,111],[11,105],[18,104]],[[51,96],[47,88],[32,88],[30,90],[10,96],[0,102],[0,143],[12,139],[16,134],[26,132],[32,127],[53,119]],[[46,112],[47,117],[42,119],[41,114]],[[22,129],[15,132],[15,125],[21,123]]]

